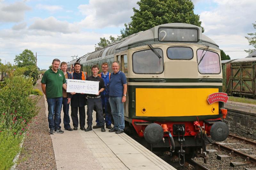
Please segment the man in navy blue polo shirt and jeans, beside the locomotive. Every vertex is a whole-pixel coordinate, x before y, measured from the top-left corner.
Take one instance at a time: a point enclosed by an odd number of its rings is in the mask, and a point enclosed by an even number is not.
[[[117,134],[124,132],[124,102],[126,101],[127,80],[125,74],[119,70],[117,62],[112,63],[109,84],[109,104],[114,119],[114,127],[109,132]]]

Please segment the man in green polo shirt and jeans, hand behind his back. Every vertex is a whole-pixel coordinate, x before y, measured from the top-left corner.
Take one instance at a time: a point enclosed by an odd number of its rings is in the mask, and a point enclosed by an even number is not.
[[[41,87],[48,103],[49,134],[63,133],[60,129],[60,111],[62,105],[62,87],[67,85],[63,71],[59,70],[60,60],[52,61],[52,68],[44,72]]]

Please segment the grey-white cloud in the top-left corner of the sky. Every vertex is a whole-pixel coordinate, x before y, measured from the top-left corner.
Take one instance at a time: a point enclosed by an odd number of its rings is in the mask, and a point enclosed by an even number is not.
[[[31,8],[24,2],[4,4],[0,1],[0,22],[20,22],[24,19],[25,11]]]

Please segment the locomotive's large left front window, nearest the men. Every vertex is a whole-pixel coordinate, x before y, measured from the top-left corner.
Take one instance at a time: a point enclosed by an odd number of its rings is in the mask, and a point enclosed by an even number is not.
[[[143,50],[133,53],[132,70],[136,74],[161,74],[164,71],[163,51],[155,48],[158,56],[151,50]]]

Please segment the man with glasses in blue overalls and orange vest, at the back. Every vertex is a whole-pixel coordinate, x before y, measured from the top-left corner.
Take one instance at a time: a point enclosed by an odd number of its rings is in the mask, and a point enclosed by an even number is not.
[[[108,63],[103,63],[101,65],[102,72],[99,76],[104,80],[105,83],[105,90],[100,93],[101,101],[102,101],[102,108],[104,109],[104,113],[106,115],[105,122],[106,128],[112,129],[111,127],[111,108],[109,105],[109,80],[110,80],[110,72],[108,72]],[[101,128],[100,122],[98,119],[98,113],[96,112],[96,126],[93,126],[92,129]]]

